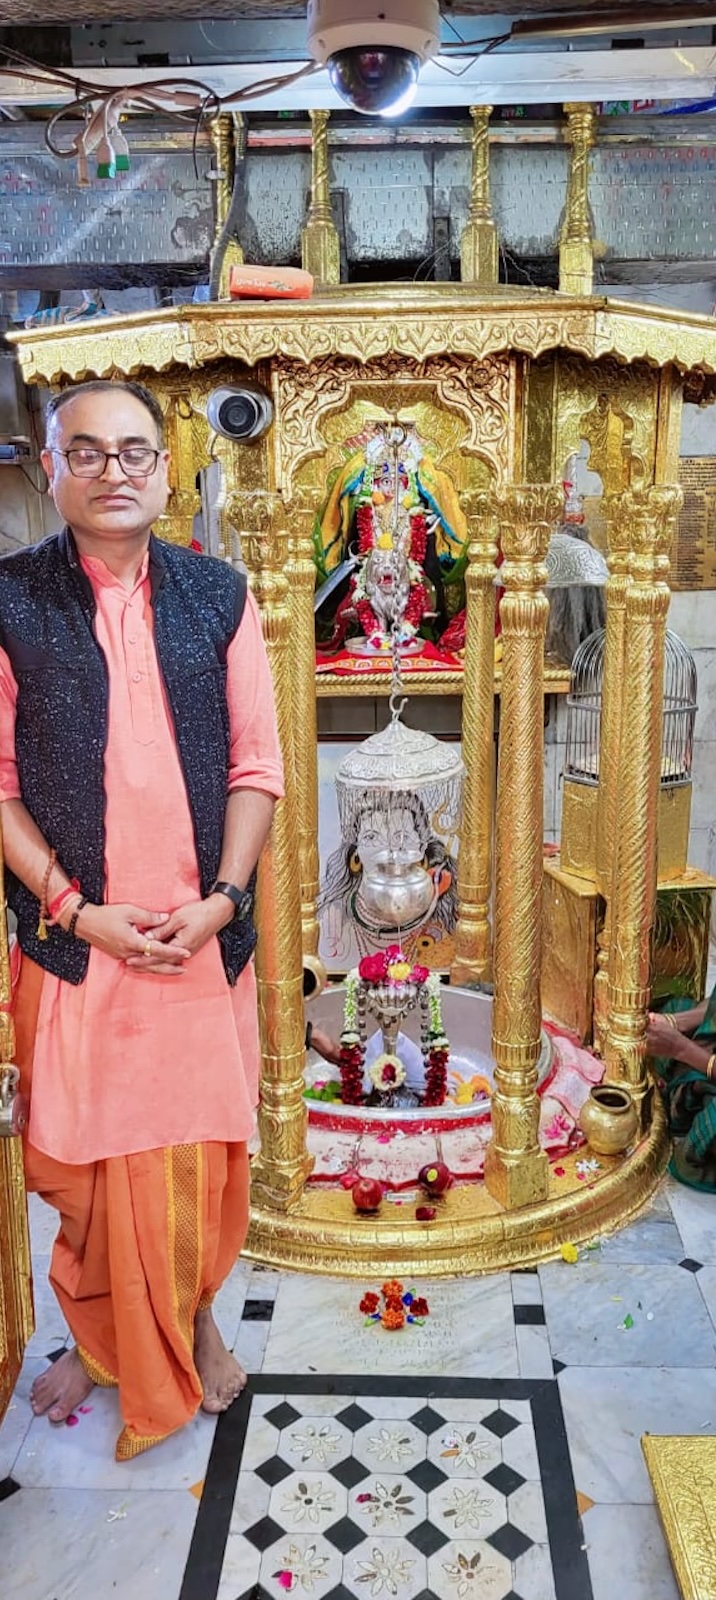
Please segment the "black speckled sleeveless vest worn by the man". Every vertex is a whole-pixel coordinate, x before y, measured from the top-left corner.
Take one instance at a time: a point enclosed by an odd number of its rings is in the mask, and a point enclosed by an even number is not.
[[[197,842],[201,893],[219,870],[229,776],[227,650],[243,616],[246,579],[224,562],[152,536],[153,632],[174,720]],[[94,637],[94,595],[64,530],[0,560],[0,643],[18,680],[16,757],[22,802],[58,861],[90,901],[104,901],[104,750],[109,680]],[[142,818],[137,816],[137,834]],[[251,882],[251,888],[254,880]],[[90,946],[62,928],[37,938],[38,901],[11,872],[8,902],[21,949],[80,984]],[[219,933],[237,982],[254,946],[253,920]]]

